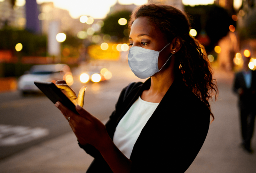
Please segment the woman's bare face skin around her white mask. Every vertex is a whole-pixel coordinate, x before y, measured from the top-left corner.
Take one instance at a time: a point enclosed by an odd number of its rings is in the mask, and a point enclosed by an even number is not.
[[[160,51],[169,42],[163,33],[156,28],[148,17],[139,17],[133,23],[129,36],[130,45]],[[170,45],[163,49],[158,58],[158,68],[160,69],[171,54]]]

